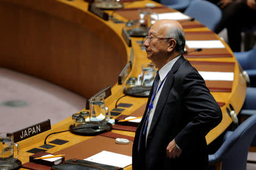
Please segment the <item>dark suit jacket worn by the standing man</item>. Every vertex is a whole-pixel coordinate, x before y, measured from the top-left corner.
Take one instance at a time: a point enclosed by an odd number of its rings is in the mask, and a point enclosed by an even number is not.
[[[146,111],[151,95],[152,89]],[[208,168],[205,135],[221,122],[222,113],[204,79],[183,56],[177,59],[163,85],[145,147],[144,141],[139,143],[139,136],[146,111],[135,133],[133,170]],[[182,150],[179,158],[166,156],[172,139]]]

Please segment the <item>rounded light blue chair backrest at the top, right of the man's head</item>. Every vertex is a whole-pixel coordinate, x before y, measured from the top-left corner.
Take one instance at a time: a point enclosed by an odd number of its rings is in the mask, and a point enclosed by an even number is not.
[[[216,25],[221,20],[222,12],[213,3],[208,1],[192,1],[184,14],[195,18],[200,23],[214,31]]]

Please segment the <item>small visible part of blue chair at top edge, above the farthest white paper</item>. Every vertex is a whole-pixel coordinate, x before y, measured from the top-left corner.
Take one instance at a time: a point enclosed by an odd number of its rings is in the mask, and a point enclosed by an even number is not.
[[[160,0],[159,2],[178,11],[184,11],[191,0]]]

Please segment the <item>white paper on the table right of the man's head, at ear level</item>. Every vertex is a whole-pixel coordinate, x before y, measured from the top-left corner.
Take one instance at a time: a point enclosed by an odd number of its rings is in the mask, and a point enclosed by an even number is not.
[[[220,40],[192,40],[186,41],[188,48],[225,48]]]

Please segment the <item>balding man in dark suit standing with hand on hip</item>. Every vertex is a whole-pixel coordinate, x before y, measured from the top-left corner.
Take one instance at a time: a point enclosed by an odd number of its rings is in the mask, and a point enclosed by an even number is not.
[[[222,119],[204,79],[182,56],[185,38],[175,20],[159,20],[144,42],[158,74],[133,144],[133,169],[207,169],[205,135]]]

